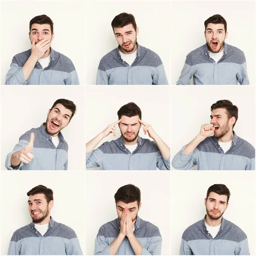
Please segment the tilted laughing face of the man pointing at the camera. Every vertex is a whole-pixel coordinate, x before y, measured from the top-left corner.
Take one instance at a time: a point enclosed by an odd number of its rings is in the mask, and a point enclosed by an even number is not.
[[[71,110],[65,108],[61,103],[56,104],[52,110],[49,109],[45,129],[51,136],[58,133],[70,123]]]

